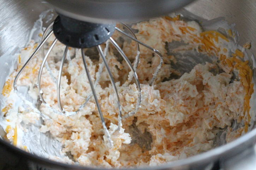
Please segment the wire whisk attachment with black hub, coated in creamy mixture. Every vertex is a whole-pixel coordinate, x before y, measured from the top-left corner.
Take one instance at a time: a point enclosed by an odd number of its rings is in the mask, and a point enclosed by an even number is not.
[[[121,23],[121,24],[131,33],[132,36],[130,36],[129,34],[125,33],[124,31],[120,30],[119,28],[117,28],[115,24],[88,23],[88,22],[78,21],[78,20],[75,20],[72,18],[68,18],[64,15],[59,15],[55,19],[54,22],[52,22],[48,25],[48,27],[46,28],[46,30],[43,33],[42,42],[37,46],[34,53],[32,53],[31,57],[28,59],[28,61],[26,61],[26,63],[23,65],[23,67],[19,70],[18,74],[16,75],[14,82],[13,82],[15,92],[18,93],[17,80],[18,80],[19,76],[22,74],[22,71],[26,68],[28,63],[35,57],[36,53],[41,49],[43,61],[42,61],[42,64],[41,64],[41,67],[39,70],[39,74],[38,74],[37,87],[38,87],[39,97],[40,97],[40,100],[42,101],[42,103],[44,103],[46,105],[46,107],[54,113],[57,113],[60,115],[65,115],[65,116],[71,116],[71,115],[75,115],[79,111],[81,111],[81,109],[83,109],[83,107],[88,103],[90,97],[93,96],[95,99],[96,107],[97,107],[99,115],[100,115],[100,119],[102,122],[104,132],[105,132],[107,140],[108,140],[107,145],[109,148],[112,148],[113,141],[111,140],[111,134],[109,133],[109,131],[107,129],[107,126],[106,126],[106,123],[105,123],[105,120],[104,120],[104,117],[103,117],[103,114],[101,111],[101,106],[100,106],[99,100],[97,99],[96,92],[95,92],[95,88],[96,88],[97,83],[99,82],[103,67],[104,66],[106,67],[109,79],[112,84],[113,91],[116,96],[114,102],[118,108],[117,131],[120,131],[120,128],[122,127],[122,119],[131,117],[132,115],[134,115],[138,111],[139,107],[141,106],[142,90],[141,90],[138,76],[136,74],[137,66],[139,63],[139,54],[140,54],[139,53],[139,45],[142,45],[145,48],[148,48],[149,50],[153,51],[157,56],[160,57],[160,63],[158,65],[155,73],[153,74],[153,78],[149,82],[150,86],[154,83],[156,76],[159,73],[159,70],[161,69],[162,63],[163,63],[163,57],[159,51],[140,42],[136,38],[135,33],[133,33],[133,31],[126,24],[124,24],[124,23]],[[53,30],[48,33],[48,31],[51,27],[53,27]],[[111,37],[115,30],[136,42],[137,55],[135,57],[135,64],[133,66],[132,66],[131,62],[129,61],[129,59],[126,57],[123,50],[118,46],[118,44],[115,42],[115,40]],[[44,55],[44,49],[42,47],[53,33],[56,38],[54,39],[53,43],[50,45],[48,51]],[[54,75],[52,74],[52,71],[50,71],[49,65],[47,63],[47,58],[58,40],[61,43],[65,44],[66,47],[65,47],[63,56],[61,58],[58,79],[56,79],[54,77]],[[104,42],[106,42],[106,48],[103,51],[100,45]],[[137,103],[136,103],[136,108],[133,111],[123,115],[123,117],[122,117],[122,113],[121,113],[122,108],[121,108],[121,104],[120,104],[120,100],[119,100],[119,96],[118,96],[117,87],[115,86],[114,78],[110,71],[110,68],[108,66],[107,59],[106,59],[106,55],[107,55],[107,51],[108,51],[108,47],[109,47],[110,43],[115,47],[115,49],[117,49],[117,51],[123,57],[124,61],[128,64],[128,66],[131,70],[129,73],[129,75],[131,75],[131,76],[129,76],[128,80],[125,82],[125,85],[128,86],[129,83],[132,81],[132,78],[134,77],[136,85],[137,85],[137,89],[138,89],[138,99],[137,99]],[[96,46],[97,51],[99,52],[99,55],[102,58],[102,63],[99,64],[99,70],[96,73],[96,80],[94,83],[91,80],[88,65],[85,60],[85,54],[84,54],[84,50],[83,50],[85,48],[90,48],[93,46]],[[61,100],[60,100],[60,89],[61,89],[60,84],[61,84],[62,69],[64,66],[64,62],[65,62],[69,47],[81,49],[85,72],[87,74],[87,78],[88,78],[88,81],[89,81],[89,84],[91,87],[91,93],[88,95],[85,102],[76,111],[73,111],[73,112],[65,111],[65,109],[61,105]],[[57,86],[57,99],[58,99],[59,111],[52,108],[43,98],[43,91],[41,89],[41,76],[42,76],[42,71],[43,71],[44,66],[48,70],[50,77],[53,79],[54,83]],[[112,133],[114,133],[114,132],[112,132]]]

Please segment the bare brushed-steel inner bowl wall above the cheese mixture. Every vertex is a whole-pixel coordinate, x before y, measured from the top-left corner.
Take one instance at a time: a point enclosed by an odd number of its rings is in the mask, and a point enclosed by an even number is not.
[[[23,47],[28,39],[28,32],[32,29],[38,16],[49,8],[40,1],[34,0],[10,0],[3,1],[1,8],[0,21],[0,56],[6,52],[15,51],[16,47]],[[236,23],[236,29],[239,32],[239,44],[251,43],[251,50],[248,51],[249,57],[256,50],[256,2],[252,0],[236,1],[233,0],[198,0],[185,9],[203,19],[215,19],[225,17],[229,24]],[[45,18],[44,21],[53,20]],[[192,16],[191,16],[192,17]],[[44,22],[44,27],[47,23]],[[49,22],[48,22],[49,24]],[[190,69],[190,68],[189,68]],[[190,69],[191,70],[191,69]],[[187,70],[183,70],[183,73]],[[1,80],[4,80],[7,73],[1,74]],[[4,81],[0,81],[0,87]],[[1,130],[0,130],[1,131]],[[1,134],[1,133],[0,133]]]

